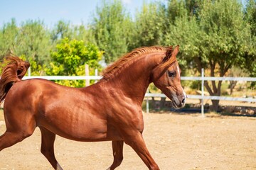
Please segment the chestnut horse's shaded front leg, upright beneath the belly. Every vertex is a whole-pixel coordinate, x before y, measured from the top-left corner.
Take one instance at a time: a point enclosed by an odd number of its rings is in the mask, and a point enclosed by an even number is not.
[[[122,163],[123,147],[124,147],[123,140],[112,141],[114,161],[113,161],[113,164],[107,170],[113,170]]]

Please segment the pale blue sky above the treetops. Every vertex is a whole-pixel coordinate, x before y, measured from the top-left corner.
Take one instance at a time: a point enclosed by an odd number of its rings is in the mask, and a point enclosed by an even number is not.
[[[132,15],[143,3],[156,0],[122,0]],[[166,2],[166,0],[157,0]],[[16,19],[19,25],[27,20],[40,19],[52,28],[58,21],[70,21],[73,25],[87,24],[92,21],[96,6],[102,0],[0,0],[0,27]]]

